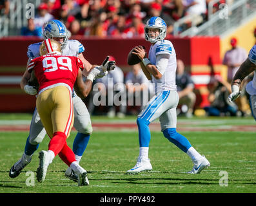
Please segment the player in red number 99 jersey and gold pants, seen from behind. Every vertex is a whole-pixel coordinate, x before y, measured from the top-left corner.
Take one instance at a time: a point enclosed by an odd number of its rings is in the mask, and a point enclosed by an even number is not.
[[[39,83],[36,106],[51,140],[48,151],[39,153],[37,180],[44,181],[48,166],[59,154],[61,160],[77,174],[78,185],[88,185],[86,170],[76,162],[74,152],[66,144],[66,138],[74,124],[72,89],[75,88],[79,97],[85,98],[92,89],[93,80],[102,77],[108,71],[99,67],[94,68],[83,82],[83,62],[74,56],[61,55],[61,45],[52,39],[43,41],[40,54],[41,57],[33,59],[28,64],[27,70],[35,73]],[[104,62],[106,61],[108,57]]]

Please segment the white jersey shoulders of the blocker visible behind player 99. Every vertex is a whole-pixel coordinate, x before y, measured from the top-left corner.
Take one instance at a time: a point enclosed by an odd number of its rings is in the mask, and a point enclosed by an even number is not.
[[[39,48],[42,42],[38,42],[35,44],[30,44],[28,46],[28,58],[35,59],[36,57],[40,57]],[[68,40],[65,48],[63,49],[62,55],[65,56],[75,56],[79,55],[79,53],[84,52],[84,46],[77,40]]]

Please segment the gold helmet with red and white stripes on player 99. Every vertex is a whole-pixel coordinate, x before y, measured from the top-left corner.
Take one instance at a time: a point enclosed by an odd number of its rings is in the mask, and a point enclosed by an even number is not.
[[[40,55],[46,55],[48,53],[57,53],[61,54],[61,44],[53,39],[45,39],[40,46]]]

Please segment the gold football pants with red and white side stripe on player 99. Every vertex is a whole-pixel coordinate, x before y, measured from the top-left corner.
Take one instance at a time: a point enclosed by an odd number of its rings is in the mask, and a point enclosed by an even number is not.
[[[48,136],[61,131],[68,138],[74,124],[72,91],[66,86],[46,89],[38,95],[36,106]]]

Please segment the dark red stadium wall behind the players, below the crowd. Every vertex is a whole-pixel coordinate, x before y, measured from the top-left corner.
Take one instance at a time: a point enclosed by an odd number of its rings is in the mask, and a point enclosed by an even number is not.
[[[77,39],[84,45],[84,57],[92,64],[101,64],[106,55],[112,55],[124,73],[130,69],[126,63],[126,57],[134,46],[143,45],[147,51],[150,48],[150,43],[141,38],[72,37],[71,39]],[[184,62],[186,69],[192,73],[192,77],[202,76],[202,78],[195,78],[197,81],[195,86],[198,89],[197,107],[207,105],[207,92],[200,91],[200,88],[208,84],[205,77],[219,73],[214,69],[221,64],[219,37],[170,37],[168,40],[172,41],[177,58]],[[0,55],[0,112],[34,111],[35,98],[26,95],[19,88],[19,79],[26,68],[28,46],[39,41],[42,39],[36,37],[0,39],[0,48],[5,48],[1,50]]]

